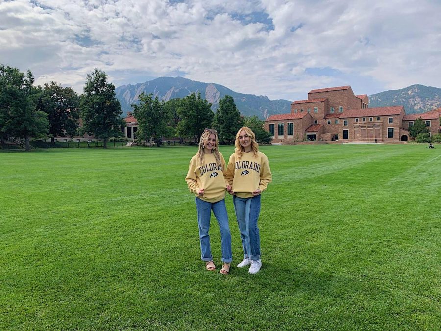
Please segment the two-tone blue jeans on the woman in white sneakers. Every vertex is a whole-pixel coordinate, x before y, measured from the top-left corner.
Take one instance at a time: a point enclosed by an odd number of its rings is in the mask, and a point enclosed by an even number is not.
[[[257,219],[260,214],[260,194],[251,198],[233,196],[239,231],[241,231],[244,258],[260,259],[260,235]]]

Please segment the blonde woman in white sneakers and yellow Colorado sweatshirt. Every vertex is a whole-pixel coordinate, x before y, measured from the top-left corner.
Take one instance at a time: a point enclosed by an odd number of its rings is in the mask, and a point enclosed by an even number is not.
[[[260,195],[271,182],[272,175],[267,156],[259,152],[256,135],[248,127],[241,127],[234,142],[235,152],[230,156],[226,178],[231,185],[234,210],[241,232],[244,260],[238,268],[251,265],[250,274],[259,272],[260,235],[257,220],[260,214]]]

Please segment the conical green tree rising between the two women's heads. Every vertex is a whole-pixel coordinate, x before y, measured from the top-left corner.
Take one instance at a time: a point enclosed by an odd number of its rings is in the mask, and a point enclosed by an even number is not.
[[[219,100],[213,127],[218,131],[219,140],[228,144],[234,142],[237,131],[244,126],[244,119],[234,103],[232,96],[226,95]]]

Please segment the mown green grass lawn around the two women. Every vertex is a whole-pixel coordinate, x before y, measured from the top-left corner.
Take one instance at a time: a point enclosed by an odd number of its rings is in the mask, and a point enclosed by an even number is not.
[[[262,147],[263,267],[226,277],[213,217],[200,260],[196,147],[0,152],[0,329],[440,330],[436,147]]]

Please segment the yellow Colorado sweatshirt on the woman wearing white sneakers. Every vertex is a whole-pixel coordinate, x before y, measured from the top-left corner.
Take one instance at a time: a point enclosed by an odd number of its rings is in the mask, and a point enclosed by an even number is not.
[[[231,154],[226,179],[240,198],[252,197],[257,189],[265,191],[272,181],[268,157],[262,152],[257,152],[257,157],[253,152],[242,152],[241,158],[237,153]]]

